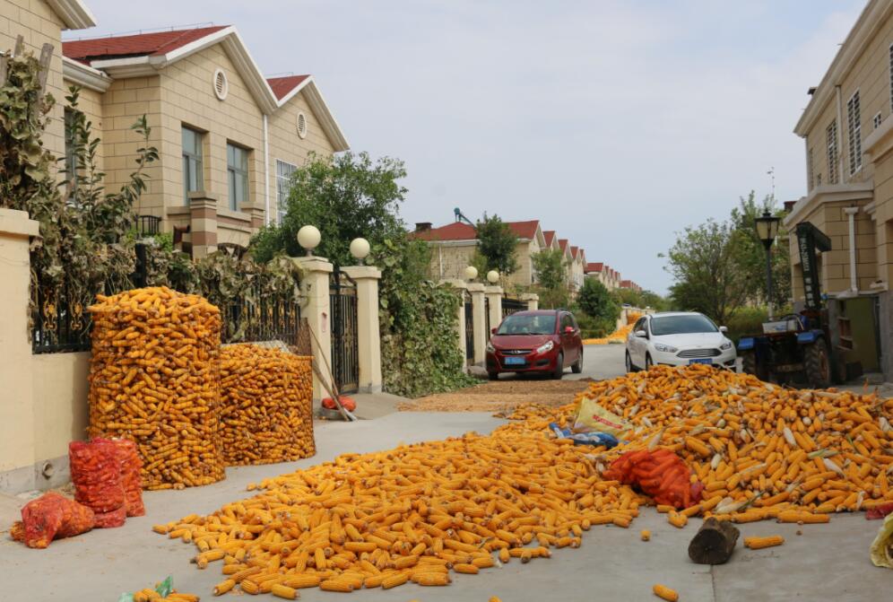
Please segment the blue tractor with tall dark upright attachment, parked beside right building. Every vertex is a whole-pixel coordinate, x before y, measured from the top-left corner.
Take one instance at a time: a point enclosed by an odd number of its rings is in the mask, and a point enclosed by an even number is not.
[[[811,388],[828,388],[832,380],[832,350],[827,313],[821,309],[816,249],[831,250],[831,241],[810,222],[797,224],[797,244],[803,272],[805,309],[763,324],[763,332],[741,336],[741,369],[760,380]]]

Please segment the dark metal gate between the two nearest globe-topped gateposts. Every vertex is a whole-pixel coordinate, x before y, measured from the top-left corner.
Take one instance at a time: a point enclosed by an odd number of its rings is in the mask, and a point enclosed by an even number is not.
[[[329,288],[332,314],[332,372],[338,393],[360,388],[360,351],[357,327],[357,285],[337,268]]]

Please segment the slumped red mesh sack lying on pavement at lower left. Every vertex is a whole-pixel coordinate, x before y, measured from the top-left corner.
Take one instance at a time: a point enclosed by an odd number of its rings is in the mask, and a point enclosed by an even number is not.
[[[45,493],[24,505],[22,525],[25,545],[43,548],[54,538],[73,537],[93,528],[93,510],[58,493]]]

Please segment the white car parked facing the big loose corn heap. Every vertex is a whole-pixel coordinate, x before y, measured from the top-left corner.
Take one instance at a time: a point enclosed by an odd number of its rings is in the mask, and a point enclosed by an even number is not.
[[[713,320],[696,311],[666,311],[639,318],[627,336],[627,371],[657,364],[707,363],[735,367],[735,345]]]

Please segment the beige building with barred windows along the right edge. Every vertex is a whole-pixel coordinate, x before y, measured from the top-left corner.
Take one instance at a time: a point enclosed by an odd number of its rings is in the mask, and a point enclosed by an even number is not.
[[[831,249],[815,259],[841,370],[893,377],[893,0],[856,20],[794,132],[804,142],[806,195],[787,204],[793,304],[804,306],[796,228],[811,223]],[[809,270],[807,270],[809,271]],[[813,297],[814,290],[810,290]]]

